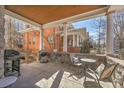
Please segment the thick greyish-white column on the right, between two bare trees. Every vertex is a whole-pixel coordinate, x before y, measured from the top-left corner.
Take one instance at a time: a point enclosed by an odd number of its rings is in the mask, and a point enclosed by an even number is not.
[[[107,15],[107,33],[106,33],[106,52],[113,54],[114,48],[114,32],[112,27],[112,13]]]

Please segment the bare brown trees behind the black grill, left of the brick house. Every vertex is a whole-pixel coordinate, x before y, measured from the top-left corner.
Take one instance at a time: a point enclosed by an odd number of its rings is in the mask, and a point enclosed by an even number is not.
[[[23,36],[16,30],[16,26],[12,19],[7,19],[5,21],[7,24],[6,28],[6,48],[9,49],[20,49],[23,45]]]

